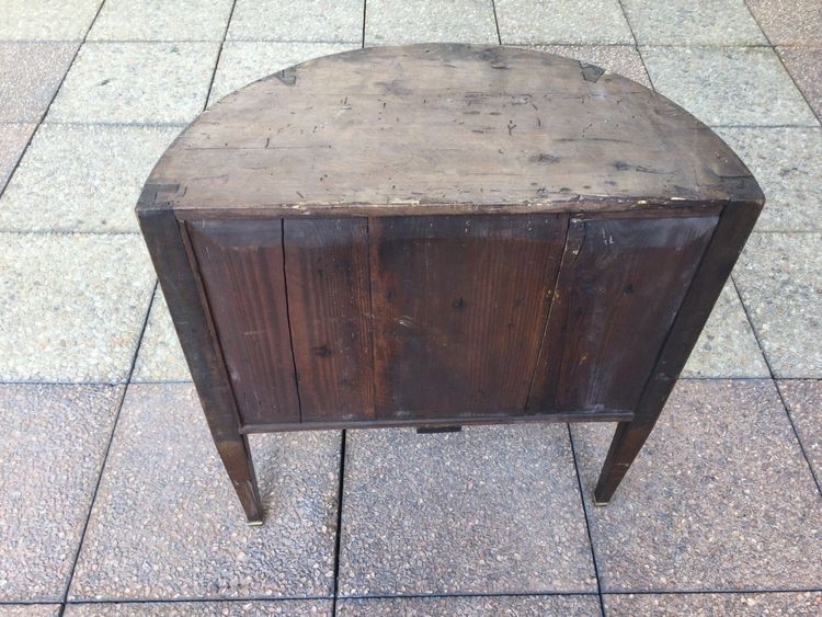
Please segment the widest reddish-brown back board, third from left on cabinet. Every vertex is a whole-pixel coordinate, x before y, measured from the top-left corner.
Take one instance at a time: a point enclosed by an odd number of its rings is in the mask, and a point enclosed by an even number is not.
[[[566,215],[373,218],[377,416],[521,413]]]

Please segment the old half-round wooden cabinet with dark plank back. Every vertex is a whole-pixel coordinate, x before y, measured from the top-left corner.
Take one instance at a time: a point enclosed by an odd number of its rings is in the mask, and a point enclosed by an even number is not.
[[[764,203],[666,99],[470,45],[328,56],[205,112],[138,215],[218,450],[246,435],[617,421],[607,502]]]

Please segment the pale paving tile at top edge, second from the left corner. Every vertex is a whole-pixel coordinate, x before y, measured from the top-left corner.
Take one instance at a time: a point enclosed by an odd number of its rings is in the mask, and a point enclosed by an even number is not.
[[[231,0],[106,0],[89,41],[222,41]]]

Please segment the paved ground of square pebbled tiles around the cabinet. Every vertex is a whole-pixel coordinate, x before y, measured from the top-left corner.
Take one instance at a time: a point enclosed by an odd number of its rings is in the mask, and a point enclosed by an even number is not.
[[[2,12],[0,616],[822,614],[819,0]],[[768,206],[609,507],[590,499],[609,426],[329,432],[254,441],[269,518],[250,528],[134,203],[208,102],[423,41],[536,45],[653,85],[738,149]]]

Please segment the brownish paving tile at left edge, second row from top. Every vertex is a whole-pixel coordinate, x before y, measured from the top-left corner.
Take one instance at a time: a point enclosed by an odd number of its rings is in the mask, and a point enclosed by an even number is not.
[[[0,122],[39,122],[77,43],[0,43]]]

